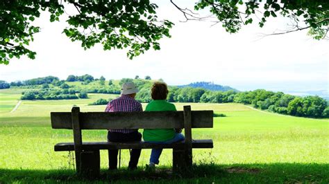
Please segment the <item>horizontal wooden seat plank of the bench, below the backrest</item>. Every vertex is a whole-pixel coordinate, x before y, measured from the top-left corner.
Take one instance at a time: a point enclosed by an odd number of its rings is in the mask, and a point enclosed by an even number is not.
[[[160,145],[146,142],[83,142],[83,150],[99,150],[99,149],[183,149],[185,142],[176,142],[170,145]],[[193,148],[213,148],[213,142],[207,140],[192,140]],[[74,151],[73,142],[61,142],[55,145],[55,151]]]

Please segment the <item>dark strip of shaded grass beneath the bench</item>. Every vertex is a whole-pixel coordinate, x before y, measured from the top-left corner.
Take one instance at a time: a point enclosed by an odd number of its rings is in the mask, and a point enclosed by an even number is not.
[[[168,168],[146,172],[101,170],[94,181],[78,178],[74,170],[0,169],[0,183],[329,183],[329,164],[273,163],[194,165],[185,174]]]

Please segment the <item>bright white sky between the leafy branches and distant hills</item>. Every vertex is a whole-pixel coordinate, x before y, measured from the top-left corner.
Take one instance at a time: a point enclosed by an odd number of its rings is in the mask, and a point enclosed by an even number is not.
[[[178,4],[182,7],[193,3]],[[74,14],[74,8],[67,10]],[[12,82],[53,75],[65,80],[68,75],[103,75],[106,79],[151,76],[169,85],[191,82],[214,82],[240,91],[326,91],[328,95],[329,42],[307,36],[307,31],[264,37],[278,30],[287,30],[289,19],[269,19],[264,28],[257,24],[242,26],[236,34],[226,33],[220,24],[210,21],[187,21],[169,1],[159,4],[159,18],[173,21],[171,38],[160,41],[161,50],[149,50],[130,60],[127,50],[104,51],[101,45],[83,50],[81,43],[71,42],[64,34],[67,26],[50,23],[42,13],[34,25],[41,27],[29,46],[36,59],[10,60],[0,65],[0,80]]]

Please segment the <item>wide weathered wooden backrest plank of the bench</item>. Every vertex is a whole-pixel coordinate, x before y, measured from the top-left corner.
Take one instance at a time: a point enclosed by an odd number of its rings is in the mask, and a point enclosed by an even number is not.
[[[213,111],[192,111],[192,128],[212,128]],[[184,128],[183,111],[87,112],[80,113],[81,129]],[[71,113],[52,112],[53,129],[72,129]]]

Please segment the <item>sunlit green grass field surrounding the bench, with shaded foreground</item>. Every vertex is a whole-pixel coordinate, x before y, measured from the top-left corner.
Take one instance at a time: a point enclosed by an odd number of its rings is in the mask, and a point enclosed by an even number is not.
[[[20,91],[0,90],[0,183],[80,183],[67,152],[54,152],[57,142],[71,142],[72,132],[50,127],[51,111],[103,111],[88,106],[99,98],[116,95],[89,94],[85,100],[19,101]],[[143,104],[145,107],[145,104]],[[186,104],[175,104],[182,110]],[[122,167],[107,172],[107,152],[101,151],[102,177],[96,183],[329,183],[329,121],[279,116],[255,111],[242,104],[191,104],[192,110],[211,109],[226,117],[214,118],[213,129],[193,130],[193,138],[212,138],[214,149],[194,149],[194,173],[171,174],[171,150],[165,150],[156,173],[144,172],[150,150],[142,151],[140,169]],[[142,131],[142,130],[141,130]],[[84,140],[106,140],[106,131],[83,131]],[[85,181],[87,183],[87,181]]]

